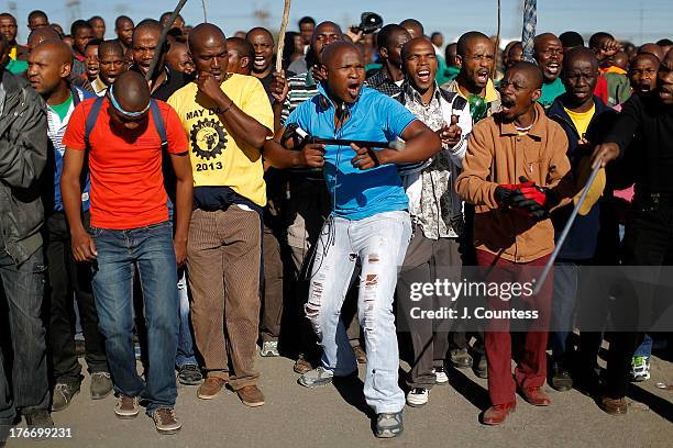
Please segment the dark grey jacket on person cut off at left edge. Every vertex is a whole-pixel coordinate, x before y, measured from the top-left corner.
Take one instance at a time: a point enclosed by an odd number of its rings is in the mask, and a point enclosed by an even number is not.
[[[25,81],[7,70],[0,70],[0,243],[20,265],[42,247],[46,111]]]

